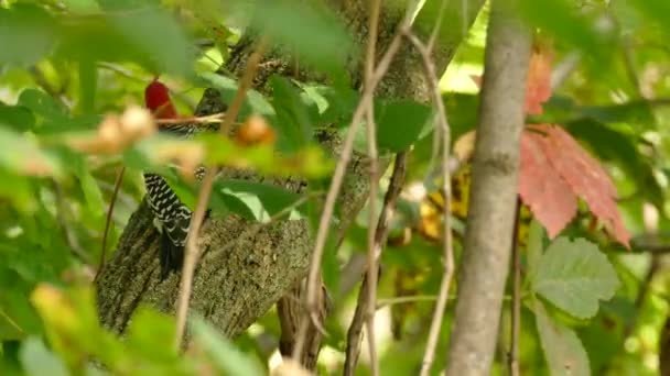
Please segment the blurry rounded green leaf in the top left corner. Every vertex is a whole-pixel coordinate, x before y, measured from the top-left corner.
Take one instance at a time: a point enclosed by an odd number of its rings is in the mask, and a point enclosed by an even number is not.
[[[50,54],[58,37],[56,21],[42,8],[15,3],[0,8],[0,66],[31,65]]]

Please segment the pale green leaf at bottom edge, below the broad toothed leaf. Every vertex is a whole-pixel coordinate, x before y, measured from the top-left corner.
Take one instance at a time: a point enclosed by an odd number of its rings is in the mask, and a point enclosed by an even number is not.
[[[570,328],[552,320],[542,302],[534,301],[536,323],[552,375],[591,375],[588,355]]]

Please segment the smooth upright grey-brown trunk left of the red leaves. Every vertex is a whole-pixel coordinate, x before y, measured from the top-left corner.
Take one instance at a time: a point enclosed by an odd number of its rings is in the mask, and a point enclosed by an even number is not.
[[[516,1],[494,0],[473,159],[458,300],[446,375],[489,375],[515,226],[530,31]]]

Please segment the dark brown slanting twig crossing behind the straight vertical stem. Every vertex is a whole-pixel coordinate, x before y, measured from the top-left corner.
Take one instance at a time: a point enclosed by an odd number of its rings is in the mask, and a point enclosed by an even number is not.
[[[396,202],[398,201],[398,197],[400,196],[400,191],[402,190],[402,186],[404,184],[404,176],[407,174],[407,152],[398,153],[398,155],[396,156],[391,181],[389,183],[389,188],[383,197],[383,207],[381,208],[381,212],[379,213],[377,224],[372,224],[372,226],[375,228],[375,239],[372,245],[375,279],[369,278],[369,270],[371,266],[368,265],[368,274],[365,275],[363,284],[360,285],[356,311],[354,312],[354,318],[352,319],[352,324],[349,325],[349,330],[347,332],[347,350],[344,365],[345,375],[354,375],[360,346],[360,331],[363,329],[366,313],[369,314],[370,311],[375,313],[377,309],[375,299],[370,299],[370,294],[368,290],[372,283],[377,281],[376,277],[379,274],[379,264],[377,263],[377,261],[381,255],[383,244],[386,244],[389,233],[389,224],[393,215],[393,211],[396,209]],[[376,296],[372,298],[376,298]]]

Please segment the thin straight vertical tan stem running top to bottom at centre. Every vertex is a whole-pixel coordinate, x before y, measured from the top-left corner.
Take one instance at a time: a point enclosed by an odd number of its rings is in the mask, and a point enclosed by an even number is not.
[[[377,47],[377,31],[379,27],[379,8],[380,0],[370,0],[370,16],[367,44],[367,57],[365,69],[365,86],[372,79],[375,73],[375,55]],[[374,91],[374,90],[372,90]],[[375,346],[375,301],[377,300],[377,277],[379,268],[377,266],[377,257],[375,257],[376,231],[375,223],[377,222],[377,190],[379,189],[379,155],[377,153],[377,129],[375,124],[375,102],[369,101],[367,109],[367,139],[368,139],[368,159],[369,159],[369,176],[370,191],[368,200],[368,273],[367,273],[367,340],[368,352],[370,354],[370,371],[372,376],[379,375],[379,360],[377,358],[377,349]],[[363,294],[363,291],[361,291]]]

